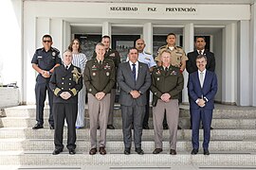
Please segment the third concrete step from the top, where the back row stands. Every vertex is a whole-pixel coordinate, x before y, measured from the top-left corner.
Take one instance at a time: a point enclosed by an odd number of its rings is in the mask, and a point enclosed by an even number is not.
[[[64,127],[64,139],[66,138],[66,127]],[[1,127],[0,128],[0,139],[53,139],[54,130],[46,128],[31,129],[30,127]],[[98,130],[99,135],[99,130]],[[107,142],[110,141],[122,141],[122,130],[121,129],[107,129]],[[77,129],[77,139],[89,140],[89,129],[82,128]],[[181,129],[177,133],[178,140],[191,140],[192,130]],[[203,130],[200,130],[200,139],[203,139]],[[255,129],[213,129],[210,132],[211,140],[247,140],[251,141],[256,139]],[[163,140],[169,140],[169,130],[163,130]],[[154,141],[154,130],[147,129],[142,132],[142,141]]]

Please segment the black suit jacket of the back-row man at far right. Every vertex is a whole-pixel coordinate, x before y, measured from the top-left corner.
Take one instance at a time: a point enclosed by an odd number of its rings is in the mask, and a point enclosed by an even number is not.
[[[186,70],[189,74],[192,74],[193,72],[198,70],[197,66],[196,66],[196,62],[195,62],[198,55],[199,54],[198,54],[197,50],[188,53],[189,60],[187,60],[187,63],[186,63]],[[215,71],[214,54],[211,53],[210,51],[205,50],[204,55],[207,57],[206,69],[211,72],[214,72]]]

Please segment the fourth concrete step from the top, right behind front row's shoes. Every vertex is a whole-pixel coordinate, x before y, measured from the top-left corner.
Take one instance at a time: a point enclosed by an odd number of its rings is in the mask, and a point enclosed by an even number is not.
[[[66,140],[64,140],[64,145]],[[88,153],[90,150],[90,141],[88,139],[77,140],[77,151]],[[202,145],[202,141],[200,141]],[[134,147],[134,145],[133,145]],[[155,142],[142,141],[142,148],[146,153],[152,153],[155,149]],[[122,141],[107,142],[106,149],[109,153],[122,153],[124,144]],[[54,150],[53,139],[1,139],[0,151],[40,151]],[[163,142],[163,150],[170,151],[170,144],[167,141]],[[177,141],[177,152],[190,152],[192,150],[191,141]],[[212,152],[256,152],[255,141],[210,141],[210,151]]]

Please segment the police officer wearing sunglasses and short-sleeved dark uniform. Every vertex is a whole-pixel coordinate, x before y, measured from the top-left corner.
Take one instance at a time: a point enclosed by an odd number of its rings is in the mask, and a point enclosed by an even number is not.
[[[54,128],[53,114],[52,114],[52,97],[53,93],[49,89],[49,79],[55,67],[61,65],[60,52],[58,49],[51,47],[52,38],[50,35],[43,36],[43,48],[35,51],[31,61],[32,67],[39,75],[36,77],[35,95],[36,95],[36,121],[37,124],[33,129],[43,128],[44,125],[44,108],[46,100],[46,91],[48,93],[49,102],[49,126]]]

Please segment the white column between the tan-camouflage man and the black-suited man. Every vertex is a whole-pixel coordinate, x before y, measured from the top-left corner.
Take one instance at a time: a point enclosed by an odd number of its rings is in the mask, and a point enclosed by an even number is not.
[[[183,49],[188,54],[188,52],[193,51],[193,33],[194,32],[194,27],[193,24],[190,23],[186,25],[183,29]],[[188,72],[183,72],[184,76],[184,89],[182,91],[182,102],[183,103],[188,103],[189,102],[189,96],[188,96],[188,78],[189,74]]]

